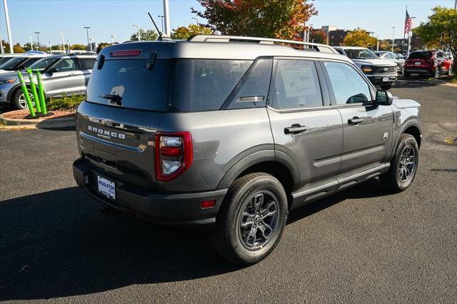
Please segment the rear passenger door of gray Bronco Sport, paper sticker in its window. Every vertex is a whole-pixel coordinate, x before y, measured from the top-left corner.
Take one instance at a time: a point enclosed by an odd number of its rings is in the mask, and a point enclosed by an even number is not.
[[[301,173],[296,188],[332,180],[340,170],[343,126],[329,105],[323,74],[307,59],[276,59],[268,116],[275,150],[286,153]]]

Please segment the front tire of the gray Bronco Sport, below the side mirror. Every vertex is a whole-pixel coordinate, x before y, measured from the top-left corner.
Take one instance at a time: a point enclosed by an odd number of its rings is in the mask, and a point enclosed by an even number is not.
[[[404,157],[407,148],[411,148],[413,152],[412,166],[405,166],[407,158]],[[402,158],[403,156],[403,158]],[[411,158],[408,158],[411,161]],[[391,161],[391,168],[387,173],[384,173],[381,178],[381,184],[391,193],[398,193],[406,190],[414,180],[419,163],[419,148],[416,138],[411,134],[401,134],[396,148],[396,153]],[[408,169],[409,176],[405,178],[406,171],[401,171],[402,167]]]

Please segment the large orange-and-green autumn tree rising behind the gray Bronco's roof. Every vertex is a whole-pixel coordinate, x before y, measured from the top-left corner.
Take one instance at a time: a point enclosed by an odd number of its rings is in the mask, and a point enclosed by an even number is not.
[[[308,0],[198,0],[191,8],[223,35],[299,39],[303,24],[317,11]]]

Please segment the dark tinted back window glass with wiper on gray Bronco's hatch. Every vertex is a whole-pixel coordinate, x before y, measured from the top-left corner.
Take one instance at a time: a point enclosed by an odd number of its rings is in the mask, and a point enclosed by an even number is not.
[[[93,69],[87,86],[87,101],[112,105],[102,96],[121,97],[124,108],[165,111],[169,91],[171,64],[157,59],[154,68],[146,69],[146,59],[107,59],[103,67]]]

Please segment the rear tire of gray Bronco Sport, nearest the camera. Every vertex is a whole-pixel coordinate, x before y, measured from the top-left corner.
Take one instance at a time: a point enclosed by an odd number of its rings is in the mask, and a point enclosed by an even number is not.
[[[262,198],[261,203],[260,195]],[[274,201],[267,201],[268,197],[272,197],[276,200],[275,212],[270,208],[270,204],[275,203]],[[250,206],[266,206],[263,212],[257,214],[257,208],[251,212],[246,212]],[[260,214],[264,214],[264,211],[272,213],[273,216],[269,218],[261,218]],[[254,216],[256,217],[254,219]],[[273,223],[273,217],[276,216],[276,220]],[[281,239],[281,235],[286,226],[288,216],[288,204],[286,198],[286,192],[279,181],[273,176],[266,173],[251,173],[241,178],[236,179],[233,182],[229,191],[224,199],[224,203],[221,206],[218,216],[216,217],[216,225],[211,233],[211,241],[217,253],[226,260],[237,265],[252,265],[266,258],[278,244]],[[243,221],[246,219],[246,223]],[[269,221],[269,225],[267,223]],[[248,224],[250,221],[251,226],[241,226],[242,224]],[[257,228],[255,225],[257,225]],[[261,229],[263,226],[263,230]],[[268,227],[271,227],[271,232],[268,231]],[[246,235],[246,230],[249,230],[246,240],[243,235]],[[253,244],[250,248],[248,241],[251,240],[250,236],[253,233]],[[244,233],[244,234],[243,234]],[[263,240],[263,235],[268,235],[265,238],[265,243],[256,243],[257,235],[260,234],[259,240]],[[256,245],[257,244],[257,245]]]

